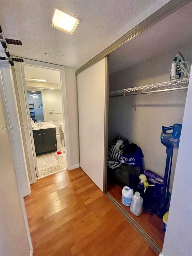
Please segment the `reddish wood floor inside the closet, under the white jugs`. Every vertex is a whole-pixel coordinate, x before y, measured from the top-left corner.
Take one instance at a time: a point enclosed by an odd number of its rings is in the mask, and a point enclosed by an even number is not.
[[[144,209],[140,216],[135,216],[132,212],[130,212],[128,206],[125,206],[122,201],[122,188],[119,187],[115,182],[108,181],[107,191],[109,194],[123,207],[123,209],[128,212],[128,214],[137,221],[137,224],[143,228],[144,231],[158,244],[160,248],[163,248],[164,236],[163,232],[163,220],[158,218],[156,214],[150,215]]]

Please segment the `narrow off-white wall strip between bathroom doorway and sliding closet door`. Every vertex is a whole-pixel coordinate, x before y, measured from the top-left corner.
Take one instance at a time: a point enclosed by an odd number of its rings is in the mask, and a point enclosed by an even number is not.
[[[71,166],[79,166],[79,119],[75,69],[65,67]]]

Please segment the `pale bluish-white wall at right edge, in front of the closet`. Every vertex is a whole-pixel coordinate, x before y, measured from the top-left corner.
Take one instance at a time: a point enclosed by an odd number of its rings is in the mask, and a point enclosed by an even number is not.
[[[191,70],[192,72],[192,70]],[[176,164],[164,256],[192,255],[192,77],[190,77]]]

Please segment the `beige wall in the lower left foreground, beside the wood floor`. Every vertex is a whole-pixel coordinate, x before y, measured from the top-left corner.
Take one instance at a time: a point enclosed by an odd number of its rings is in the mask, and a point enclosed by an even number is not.
[[[1,126],[7,126],[1,101]],[[1,255],[27,256],[29,240],[22,211],[8,130],[1,129]]]

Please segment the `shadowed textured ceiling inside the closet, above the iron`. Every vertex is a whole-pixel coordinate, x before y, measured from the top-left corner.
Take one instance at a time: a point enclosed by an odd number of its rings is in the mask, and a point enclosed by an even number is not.
[[[110,74],[184,44],[192,44],[192,2],[110,53]]]

